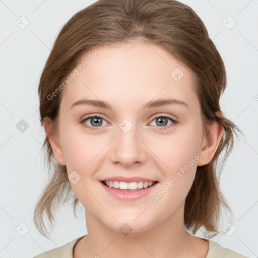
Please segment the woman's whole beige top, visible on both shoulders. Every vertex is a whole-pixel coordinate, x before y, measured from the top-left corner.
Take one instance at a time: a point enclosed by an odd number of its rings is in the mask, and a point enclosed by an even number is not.
[[[84,235],[85,236],[85,235]],[[73,248],[76,243],[84,236],[78,237],[58,248],[43,252],[33,258],[73,258]],[[206,239],[209,242],[209,250],[206,258],[248,258],[231,249],[224,248],[215,241]]]

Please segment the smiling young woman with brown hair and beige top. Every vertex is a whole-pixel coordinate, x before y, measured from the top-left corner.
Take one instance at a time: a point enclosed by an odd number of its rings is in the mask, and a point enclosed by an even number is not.
[[[43,214],[52,222],[74,193],[88,233],[36,258],[244,257],[194,235],[222,232],[230,211],[216,168],[241,131],[220,109],[225,87],[223,60],[185,4],[99,0],[76,13],[39,83],[52,174],[35,223],[46,235]]]

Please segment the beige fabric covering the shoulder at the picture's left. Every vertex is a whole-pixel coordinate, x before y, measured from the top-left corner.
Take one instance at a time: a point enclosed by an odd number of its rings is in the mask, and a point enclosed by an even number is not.
[[[73,248],[76,243],[83,238],[84,236],[80,236],[71,242],[68,242],[60,247],[51,249],[49,251],[42,252],[33,258],[73,258]]]

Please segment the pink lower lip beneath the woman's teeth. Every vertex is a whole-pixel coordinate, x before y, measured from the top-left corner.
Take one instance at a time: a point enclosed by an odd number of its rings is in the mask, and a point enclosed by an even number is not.
[[[156,188],[158,182],[153,184],[151,187],[142,188],[141,190],[137,190],[137,191],[117,190],[116,188],[110,188],[110,187],[106,186],[102,182],[100,182],[100,184],[102,185],[102,187],[104,187],[104,189],[108,193],[110,193],[110,195],[116,197],[117,199],[120,199],[120,200],[137,200],[137,199],[140,199],[141,197],[147,196],[148,193],[153,191],[153,189]]]

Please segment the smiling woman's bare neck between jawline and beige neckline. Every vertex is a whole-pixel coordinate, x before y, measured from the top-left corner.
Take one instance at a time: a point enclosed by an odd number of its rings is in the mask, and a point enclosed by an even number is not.
[[[173,214],[143,232],[123,234],[107,227],[85,210],[87,231],[74,249],[74,257],[201,257],[208,242],[188,233],[182,214]]]

